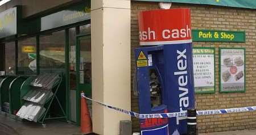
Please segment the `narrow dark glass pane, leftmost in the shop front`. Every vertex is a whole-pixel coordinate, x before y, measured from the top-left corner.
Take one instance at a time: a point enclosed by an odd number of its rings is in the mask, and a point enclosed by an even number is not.
[[[15,74],[15,42],[5,43],[5,74]]]

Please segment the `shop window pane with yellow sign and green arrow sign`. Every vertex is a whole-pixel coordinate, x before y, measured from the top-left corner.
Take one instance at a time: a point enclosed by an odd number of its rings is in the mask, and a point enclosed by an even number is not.
[[[16,74],[36,73],[36,37],[18,40],[18,70]]]

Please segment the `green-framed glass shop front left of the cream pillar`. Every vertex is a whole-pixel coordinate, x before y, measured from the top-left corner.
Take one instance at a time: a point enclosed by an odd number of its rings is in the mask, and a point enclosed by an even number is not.
[[[63,76],[57,97],[67,120],[80,125],[80,92],[92,96],[90,1],[72,3],[34,18],[24,7],[0,13],[1,73],[32,77]],[[92,111],[92,103],[88,103]],[[91,112],[92,114],[92,112]]]

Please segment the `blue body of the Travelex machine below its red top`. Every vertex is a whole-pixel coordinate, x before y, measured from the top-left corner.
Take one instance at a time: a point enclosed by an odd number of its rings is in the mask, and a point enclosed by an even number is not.
[[[195,107],[192,43],[138,48],[135,54],[140,113],[154,113],[152,108],[163,105],[168,112]],[[138,62],[142,55],[147,66]],[[187,132],[186,117],[170,118],[168,127],[170,134]]]

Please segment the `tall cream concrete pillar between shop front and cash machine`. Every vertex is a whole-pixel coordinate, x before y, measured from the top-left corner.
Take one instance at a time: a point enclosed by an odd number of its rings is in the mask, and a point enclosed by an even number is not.
[[[130,0],[92,0],[92,97],[130,110]],[[93,132],[119,134],[123,113],[93,103]]]

